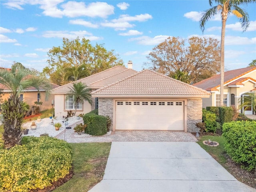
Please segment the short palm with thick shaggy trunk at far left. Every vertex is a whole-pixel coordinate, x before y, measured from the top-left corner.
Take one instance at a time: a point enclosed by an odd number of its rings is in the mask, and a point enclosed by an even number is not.
[[[21,124],[23,114],[27,110],[26,103],[20,101],[20,94],[30,87],[36,90],[45,90],[50,96],[51,83],[43,76],[34,76],[32,72],[25,68],[17,69],[17,65],[12,65],[10,70],[0,70],[0,84],[10,90],[11,96],[2,104],[2,114],[4,118],[4,146],[11,148],[20,143]]]

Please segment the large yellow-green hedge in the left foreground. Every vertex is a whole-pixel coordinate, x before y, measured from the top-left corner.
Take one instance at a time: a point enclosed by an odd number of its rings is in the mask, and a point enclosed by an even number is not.
[[[24,136],[22,145],[0,149],[0,191],[43,189],[69,173],[71,148],[52,137]]]

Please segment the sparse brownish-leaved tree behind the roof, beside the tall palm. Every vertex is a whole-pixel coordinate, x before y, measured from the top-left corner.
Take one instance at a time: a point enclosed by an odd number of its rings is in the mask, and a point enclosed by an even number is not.
[[[186,82],[198,82],[219,72],[220,46],[213,38],[169,37],[153,48],[149,62],[150,69],[174,77],[179,71],[186,74]]]

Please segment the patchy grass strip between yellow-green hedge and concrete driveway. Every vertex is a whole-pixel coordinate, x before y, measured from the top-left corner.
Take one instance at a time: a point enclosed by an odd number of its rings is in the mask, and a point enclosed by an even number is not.
[[[72,143],[74,176],[54,192],[86,192],[104,174],[111,143]]]

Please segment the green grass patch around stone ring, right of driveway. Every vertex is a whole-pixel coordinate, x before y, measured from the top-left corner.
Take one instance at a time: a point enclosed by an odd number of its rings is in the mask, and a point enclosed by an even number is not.
[[[219,146],[213,147],[213,146],[207,146],[203,144],[203,141],[205,140],[211,140],[216,141],[219,143]],[[226,164],[226,158],[225,158],[225,150],[224,150],[224,144],[225,144],[225,138],[223,136],[202,136],[198,139],[197,142],[206,152],[208,152],[216,161],[218,161],[222,166],[225,166]]]

